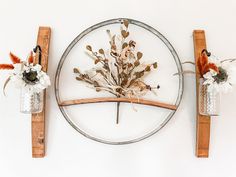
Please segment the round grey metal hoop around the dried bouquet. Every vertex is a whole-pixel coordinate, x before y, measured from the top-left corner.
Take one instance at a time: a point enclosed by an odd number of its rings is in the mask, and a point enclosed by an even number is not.
[[[161,128],[163,128],[167,122],[172,118],[172,116],[174,115],[174,113],[176,112],[176,110],[172,110],[170,112],[170,114],[167,116],[167,118],[165,119],[165,121],[159,125],[157,128],[155,128],[153,131],[147,133],[144,136],[141,136],[139,138],[136,139],[132,139],[132,140],[128,140],[128,141],[121,141],[121,142],[114,142],[114,141],[107,141],[107,140],[103,140],[103,139],[99,139],[96,138],[94,136],[91,136],[89,134],[87,134],[86,132],[84,132],[83,130],[81,130],[76,124],[73,123],[73,121],[70,119],[70,117],[68,116],[68,114],[66,113],[64,106],[61,106],[61,100],[60,100],[60,95],[59,95],[59,78],[60,78],[60,73],[61,73],[61,68],[63,66],[64,61],[66,60],[67,55],[70,53],[70,51],[72,50],[72,48],[77,44],[78,41],[80,41],[84,36],[86,36],[87,34],[89,34],[90,32],[106,26],[106,25],[111,25],[111,24],[116,24],[116,23],[121,23],[123,20],[128,20],[130,24],[139,26],[141,28],[146,29],[147,31],[151,32],[152,34],[154,34],[156,37],[158,37],[165,45],[166,47],[169,49],[169,51],[171,52],[174,61],[176,63],[177,69],[178,69],[178,73],[179,74],[179,91],[178,91],[178,97],[175,101],[175,106],[178,108],[181,99],[182,99],[182,95],[183,95],[183,85],[184,85],[184,80],[183,80],[183,75],[182,75],[182,65],[181,62],[179,60],[179,57],[175,51],[175,49],[173,48],[173,46],[171,45],[171,43],[160,33],[158,32],[156,29],[152,28],[151,26],[137,21],[137,20],[133,20],[133,19],[128,19],[128,18],[117,18],[117,19],[111,19],[111,20],[107,20],[101,23],[98,23],[96,25],[93,25],[91,27],[89,27],[88,29],[84,30],[82,33],[80,33],[67,47],[67,49],[64,51],[60,62],[58,64],[57,67],[57,71],[56,71],[56,76],[55,76],[55,85],[54,85],[54,89],[55,89],[55,95],[56,95],[56,100],[57,100],[57,104],[60,108],[61,113],[63,114],[63,116],[65,117],[65,119],[67,120],[67,122],[79,133],[81,133],[82,135],[84,135],[85,137],[100,142],[100,143],[105,143],[105,144],[111,144],[111,145],[122,145],[122,144],[130,144],[130,143],[135,143],[138,141],[141,141],[143,139],[146,139],[150,136],[152,136],[153,134],[155,134],[156,132],[158,132]]]

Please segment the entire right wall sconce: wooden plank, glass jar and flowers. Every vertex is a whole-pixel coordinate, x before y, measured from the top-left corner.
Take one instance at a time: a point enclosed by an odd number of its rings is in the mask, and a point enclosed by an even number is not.
[[[211,116],[220,114],[220,95],[232,90],[236,84],[236,59],[220,60],[206,49],[204,30],[194,30],[196,67],[196,156],[209,156]],[[189,62],[187,62],[189,63]],[[190,62],[191,63],[191,62]]]

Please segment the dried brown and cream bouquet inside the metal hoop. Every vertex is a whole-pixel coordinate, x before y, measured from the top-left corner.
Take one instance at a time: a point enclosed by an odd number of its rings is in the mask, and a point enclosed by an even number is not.
[[[85,71],[74,68],[76,79],[87,83],[97,92],[106,91],[116,97],[140,98],[148,91],[154,92],[159,85],[152,87],[144,82],[144,76],[157,68],[157,62],[145,64],[141,62],[142,52],[136,52],[136,42],[129,40],[129,21],[124,20],[119,35],[107,30],[110,48],[95,52],[90,45],[86,46],[87,54],[94,60],[95,67]],[[117,119],[119,123],[119,105],[117,103]]]

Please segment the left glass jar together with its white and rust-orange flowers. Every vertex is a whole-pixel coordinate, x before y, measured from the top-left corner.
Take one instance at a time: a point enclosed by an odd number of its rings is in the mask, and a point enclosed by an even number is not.
[[[39,57],[39,63],[34,64],[35,58]],[[12,64],[0,64],[0,69],[12,70],[7,78],[3,92],[11,81],[21,89],[20,111],[22,113],[40,113],[43,110],[43,90],[50,85],[49,76],[42,71],[41,47],[36,46],[26,61],[10,53]]]

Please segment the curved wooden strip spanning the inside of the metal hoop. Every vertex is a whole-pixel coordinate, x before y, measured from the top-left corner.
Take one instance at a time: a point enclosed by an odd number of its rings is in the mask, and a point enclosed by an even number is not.
[[[148,106],[156,106],[170,110],[176,110],[177,106],[157,101],[150,101],[145,99],[137,99],[137,98],[116,98],[116,97],[102,97],[102,98],[83,98],[76,100],[67,100],[59,103],[59,106],[71,106],[77,104],[88,104],[88,103],[103,103],[103,102],[126,102],[126,103],[135,103],[135,104],[143,104]]]

